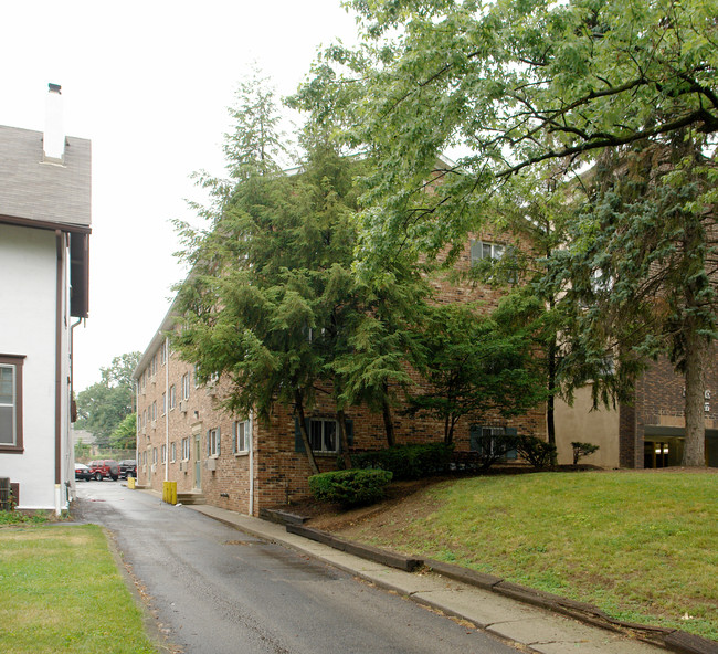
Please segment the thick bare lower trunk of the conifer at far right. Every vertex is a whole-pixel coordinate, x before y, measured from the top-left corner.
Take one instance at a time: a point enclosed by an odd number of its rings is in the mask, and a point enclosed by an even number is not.
[[[705,361],[706,339],[691,325],[686,329],[686,439],[680,465],[706,466]]]

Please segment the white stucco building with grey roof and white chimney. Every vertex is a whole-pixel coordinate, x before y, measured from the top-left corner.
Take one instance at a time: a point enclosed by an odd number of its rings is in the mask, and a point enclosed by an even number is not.
[[[91,144],[0,126],[0,477],[18,508],[68,505],[72,329],[87,317]]]

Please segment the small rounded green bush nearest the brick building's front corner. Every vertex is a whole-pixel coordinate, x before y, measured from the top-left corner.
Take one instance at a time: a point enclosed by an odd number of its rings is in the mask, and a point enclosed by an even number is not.
[[[392,474],[383,470],[347,470],[309,477],[309,491],[319,502],[342,506],[363,506],[387,494]]]

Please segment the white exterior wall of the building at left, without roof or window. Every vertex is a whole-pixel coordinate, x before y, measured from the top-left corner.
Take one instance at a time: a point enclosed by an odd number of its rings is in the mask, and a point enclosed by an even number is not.
[[[20,484],[20,508],[55,508],[55,233],[0,224],[0,354],[22,355],[22,454],[0,453],[0,476]],[[66,253],[63,251],[63,266]],[[66,271],[63,270],[66,289]],[[68,329],[66,295],[62,320],[62,479],[61,508],[66,507],[66,485],[72,451],[68,447]]]

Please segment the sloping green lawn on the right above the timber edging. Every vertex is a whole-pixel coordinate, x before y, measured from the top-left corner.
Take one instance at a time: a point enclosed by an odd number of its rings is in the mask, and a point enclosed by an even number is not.
[[[716,474],[486,476],[423,493],[345,534],[718,640]]]

